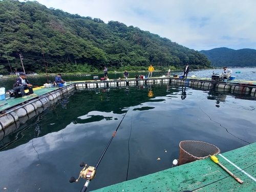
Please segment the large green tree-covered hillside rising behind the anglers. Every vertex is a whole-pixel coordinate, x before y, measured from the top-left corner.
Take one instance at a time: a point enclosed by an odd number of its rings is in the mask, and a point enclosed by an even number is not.
[[[175,30],[175,29],[174,29]],[[20,55],[22,57],[20,57]],[[37,2],[0,1],[0,72],[98,72],[210,68],[198,51],[137,27],[82,17]],[[1,69],[2,68],[2,69]]]

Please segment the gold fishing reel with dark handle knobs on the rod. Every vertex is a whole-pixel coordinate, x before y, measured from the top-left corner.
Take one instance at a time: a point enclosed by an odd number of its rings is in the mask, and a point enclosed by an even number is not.
[[[84,167],[83,167],[84,166]],[[83,167],[83,169],[81,170],[80,174],[79,174],[79,177],[76,179],[74,177],[71,177],[69,182],[70,183],[73,183],[73,182],[78,182],[78,180],[80,178],[83,178],[83,179],[88,179],[88,180],[92,180],[94,177],[95,177],[95,174],[96,174],[96,169],[95,167],[93,166],[89,166],[88,168],[87,167],[87,164],[84,163],[84,162],[81,162],[80,163],[80,167]]]

